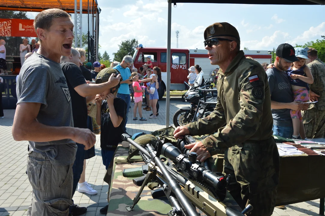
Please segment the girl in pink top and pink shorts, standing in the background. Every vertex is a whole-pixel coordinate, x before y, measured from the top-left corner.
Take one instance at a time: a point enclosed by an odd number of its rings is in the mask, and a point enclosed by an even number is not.
[[[139,76],[137,72],[133,72],[131,73],[131,79],[134,79],[136,81],[134,81],[132,83],[133,89],[134,89],[134,108],[133,108],[133,120],[137,120],[138,118],[136,117],[136,108],[138,108],[139,110],[139,117],[140,117],[140,121],[147,121],[146,118],[143,118],[142,116],[142,94],[145,91],[145,88],[141,88],[140,87],[140,83],[144,83],[144,82],[150,82],[150,80],[152,79],[144,79],[144,80],[139,80]]]

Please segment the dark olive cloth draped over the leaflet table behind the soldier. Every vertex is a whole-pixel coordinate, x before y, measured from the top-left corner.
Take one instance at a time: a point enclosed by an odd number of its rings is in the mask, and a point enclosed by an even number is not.
[[[217,172],[223,157],[216,161]],[[325,156],[280,156],[280,179],[276,206],[320,199],[319,214],[324,215]]]

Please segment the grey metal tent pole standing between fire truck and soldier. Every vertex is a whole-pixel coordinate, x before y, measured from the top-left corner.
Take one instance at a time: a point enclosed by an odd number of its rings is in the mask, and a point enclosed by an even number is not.
[[[166,80],[166,127],[169,127],[169,99],[170,99],[170,68],[171,68],[171,26],[172,26],[172,1],[168,1],[168,24],[167,24],[167,80]]]

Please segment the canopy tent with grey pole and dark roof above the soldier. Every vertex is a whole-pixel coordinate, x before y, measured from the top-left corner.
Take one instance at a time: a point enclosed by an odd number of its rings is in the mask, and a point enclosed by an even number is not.
[[[169,127],[170,68],[171,68],[171,21],[172,4],[176,3],[220,3],[256,5],[325,5],[322,0],[168,0],[167,22],[167,83],[166,83],[166,127]]]

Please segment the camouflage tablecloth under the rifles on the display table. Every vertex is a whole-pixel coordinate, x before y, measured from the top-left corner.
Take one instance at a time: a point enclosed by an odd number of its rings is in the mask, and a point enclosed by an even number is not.
[[[104,181],[109,184],[109,193],[108,193],[108,214],[109,216],[143,216],[143,215],[166,215],[172,207],[169,205],[169,201],[166,197],[161,197],[158,199],[153,199],[151,197],[151,190],[146,186],[141,194],[140,201],[136,204],[133,211],[128,212],[125,207],[132,205],[134,197],[136,197],[137,192],[140,187],[136,186],[132,182],[132,178],[123,177],[123,169],[135,168],[144,164],[144,162],[136,162],[132,164],[116,164],[117,159],[126,158],[127,148],[123,148],[122,145],[119,145],[115,151],[114,162],[110,163],[110,167],[106,173]],[[140,156],[135,156],[140,157]],[[150,202],[149,202],[150,201]],[[229,207],[237,208],[240,210],[240,207],[237,205],[235,200],[227,193],[227,197],[224,201],[224,204]],[[198,211],[202,214],[201,211]]]

